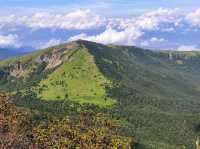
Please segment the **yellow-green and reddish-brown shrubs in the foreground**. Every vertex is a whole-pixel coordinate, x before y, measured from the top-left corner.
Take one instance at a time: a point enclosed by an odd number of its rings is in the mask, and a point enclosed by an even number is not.
[[[30,100],[35,98],[32,94]],[[133,138],[117,134],[119,121],[92,111],[81,111],[79,117],[76,123],[49,119],[43,112],[16,106],[0,93],[0,148],[135,148]],[[40,123],[31,125],[32,121]]]

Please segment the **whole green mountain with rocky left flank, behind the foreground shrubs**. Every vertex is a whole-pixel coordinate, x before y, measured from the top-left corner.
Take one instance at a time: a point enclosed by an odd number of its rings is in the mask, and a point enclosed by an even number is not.
[[[89,110],[120,121],[116,133],[139,148],[194,148],[199,66],[200,52],[78,40],[0,62],[0,89],[16,106],[41,113],[32,116],[34,125],[80,121]]]

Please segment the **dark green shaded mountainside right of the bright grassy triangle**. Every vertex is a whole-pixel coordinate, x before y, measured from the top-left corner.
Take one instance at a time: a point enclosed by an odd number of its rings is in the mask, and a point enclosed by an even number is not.
[[[191,71],[199,66],[198,55],[186,53],[183,58],[181,52],[172,52],[171,58],[169,52],[136,47],[84,45],[102,73],[115,82],[110,95],[120,105],[111,113],[130,122],[141,142],[148,148],[192,148],[200,122],[199,69]],[[185,69],[177,63],[180,59]]]

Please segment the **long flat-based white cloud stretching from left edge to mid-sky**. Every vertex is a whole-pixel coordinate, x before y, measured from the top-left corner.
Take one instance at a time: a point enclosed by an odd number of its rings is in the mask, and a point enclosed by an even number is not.
[[[33,29],[91,29],[103,26],[105,18],[91,10],[77,10],[66,14],[51,14],[48,12],[37,12],[31,16],[1,16],[0,26],[21,25]]]

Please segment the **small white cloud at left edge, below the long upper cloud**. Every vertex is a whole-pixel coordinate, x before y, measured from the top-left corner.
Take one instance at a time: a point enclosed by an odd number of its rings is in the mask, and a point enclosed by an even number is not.
[[[17,41],[18,36],[9,34],[7,36],[0,35],[0,47],[20,47],[20,43]]]

